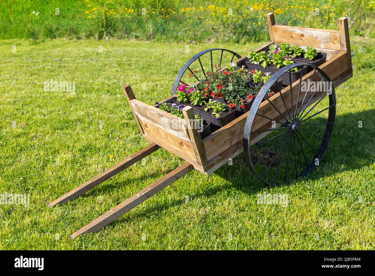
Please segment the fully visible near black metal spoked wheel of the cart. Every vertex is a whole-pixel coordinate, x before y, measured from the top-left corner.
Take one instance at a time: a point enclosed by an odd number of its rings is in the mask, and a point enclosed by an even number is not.
[[[294,68],[312,72],[306,78],[300,74],[292,83]],[[270,88],[280,78],[290,80],[290,91],[281,93],[283,88],[277,84],[273,95]],[[264,84],[249,110],[243,134],[248,166],[272,186],[308,175],[326,152],[335,116],[335,89],[322,69],[307,63],[283,67]]]

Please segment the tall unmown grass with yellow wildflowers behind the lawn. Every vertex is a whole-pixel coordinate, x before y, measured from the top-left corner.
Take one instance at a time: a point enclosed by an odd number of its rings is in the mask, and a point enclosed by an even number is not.
[[[136,38],[245,43],[267,39],[266,14],[277,24],[337,29],[375,37],[374,0],[0,0],[0,39]]]

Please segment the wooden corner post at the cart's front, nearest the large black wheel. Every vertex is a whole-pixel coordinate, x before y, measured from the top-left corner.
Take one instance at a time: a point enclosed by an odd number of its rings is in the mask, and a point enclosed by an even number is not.
[[[206,151],[203,146],[201,134],[196,128],[197,124],[195,121],[194,110],[190,106],[183,108],[182,113],[184,115],[187,131],[189,132],[190,142],[192,143],[193,150],[195,152],[195,158],[199,165],[205,166],[207,164]]]

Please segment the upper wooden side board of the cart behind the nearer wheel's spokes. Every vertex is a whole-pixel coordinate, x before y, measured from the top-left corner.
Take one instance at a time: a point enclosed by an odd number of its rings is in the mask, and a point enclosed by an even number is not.
[[[348,70],[347,66],[347,56],[346,52],[343,52],[330,61],[324,63],[320,66],[327,75],[331,79],[335,79],[336,77],[343,74],[345,71]],[[308,80],[311,78],[313,72],[310,72],[303,76],[302,80]],[[314,78],[316,80],[316,78]],[[293,98],[297,98],[298,93],[298,84],[299,81],[294,83],[292,85],[293,89]],[[284,100],[286,103],[291,103],[291,93],[290,93],[290,87],[286,87],[282,90],[282,94],[284,97]],[[308,95],[311,95],[312,92],[309,92]],[[284,107],[284,103],[282,102],[282,99],[280,97],[280,94],[276,94],[273,97],[270,98],[270,101],[281,111],[284,112],[284,116],[286,116],[287,112]],[[299,102],[302,102],[302,99],[299,100]],[[296,105],[296,103],[294,103]],[[288,105],[288,108],[290,106]],[[268,103],[268,101],[264,101],[260,104],[259,107],[260,112],[262,115],[267,116],[269,118],[275,118],[278,116],[277,111]],[[230,122],[228,125],[225,125],[224,127],[217,130],[215,133],[211,134],[210,136],[203,139],[203,144],[206,150],[207,159],[211,160],[212,158],[219,155],[221,152],[223,152],[225,149],[230,148],[234,144],[238,143],[240,140],[243,139],[243,130],[245,128],[245,122],[246,118],[248,116],[248,113],[243,114],[239,118],[235,119],[234,121]],[[267,124],[270,124],[270,121],[268,119],[262,118],[260,116],[257,116],[256,121],[254,122],[254,129],[266,129]]]

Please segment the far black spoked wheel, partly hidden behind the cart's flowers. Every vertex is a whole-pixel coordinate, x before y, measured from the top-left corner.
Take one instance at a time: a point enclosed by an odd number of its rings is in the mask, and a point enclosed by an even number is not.
[[[178,72],[177,77],[174,79],[171,95],[174,95],[177,87],[184,83],[193,86],[199,77],[203,78],[205,73],[213,72],[215,65],[219,67],[229,65],[235,60],[234,57],[239,59],[241,56],[234,51],[221,48],[207,49],[196,54]]]

